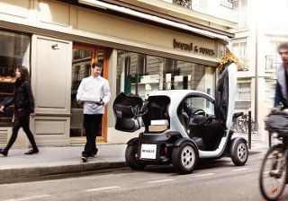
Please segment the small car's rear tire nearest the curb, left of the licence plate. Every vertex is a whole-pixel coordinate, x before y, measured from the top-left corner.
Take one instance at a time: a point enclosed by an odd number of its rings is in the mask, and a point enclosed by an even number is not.
[[[136,146],[135,145],[127,145],[126,151],[125,151],[125,161],[126,164],[130,167],[132,170],[141,170],[146,167],[146,164],[143,162],[139,162],[139,160],[136,158]]]

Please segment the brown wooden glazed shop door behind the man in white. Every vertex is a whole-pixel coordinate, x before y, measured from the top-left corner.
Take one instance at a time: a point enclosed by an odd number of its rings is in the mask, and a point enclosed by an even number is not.
[[[83,105],[76,101],[77,89],[83,78],[91,75],[91,66],[94,61],[103,63],[102,76],[108,79],[107,53],[104,48],[96,48],[84,45],[73,45],[72,54],[72,84],[71,84],[71,120],[70,138],[71,144],[85,143],[85,129],[83,117]],[[96,137],[96,142],[106,142],[107,135],[107,106],[103,115]]]

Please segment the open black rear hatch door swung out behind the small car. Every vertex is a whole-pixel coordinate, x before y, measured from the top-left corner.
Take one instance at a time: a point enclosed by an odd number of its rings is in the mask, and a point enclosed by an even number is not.
[[[141,98],[126,96],[120,92],[113,102],[115,129],[126,132],[138,130],[141,127],[139,113],[142,103]]]

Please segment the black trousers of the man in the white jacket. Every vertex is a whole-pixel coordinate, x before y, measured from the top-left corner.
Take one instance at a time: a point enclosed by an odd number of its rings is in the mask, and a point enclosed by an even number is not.
[[[97,115],[87,115],[84,114],[84,127],[86,135],[86,144],[85,149],[82,152],[82,156],[89,157],[97,153],[98,149],[96,148],[96,135],[99,129],[99,126],[102,122],[102,114]]]

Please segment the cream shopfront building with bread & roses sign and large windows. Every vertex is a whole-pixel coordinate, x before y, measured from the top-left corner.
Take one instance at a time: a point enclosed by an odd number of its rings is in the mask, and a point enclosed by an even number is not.
[[[219,58],[234,37],[228,30],[236,25],[158,0],[0,0],[0,19],[0,101],[13,93],[16,66],[27,66],[36,112],[31,130],[40,145],[85,142],[76,90],[96,60],[112,92],[98,143],[126,143],[138,135],[114,129],[118,92],[143,100],[171,89],[213,96]],[[11,107],[0,117],[0,145],[13,124]],[[20,134],[15,145],[28,144]]]

